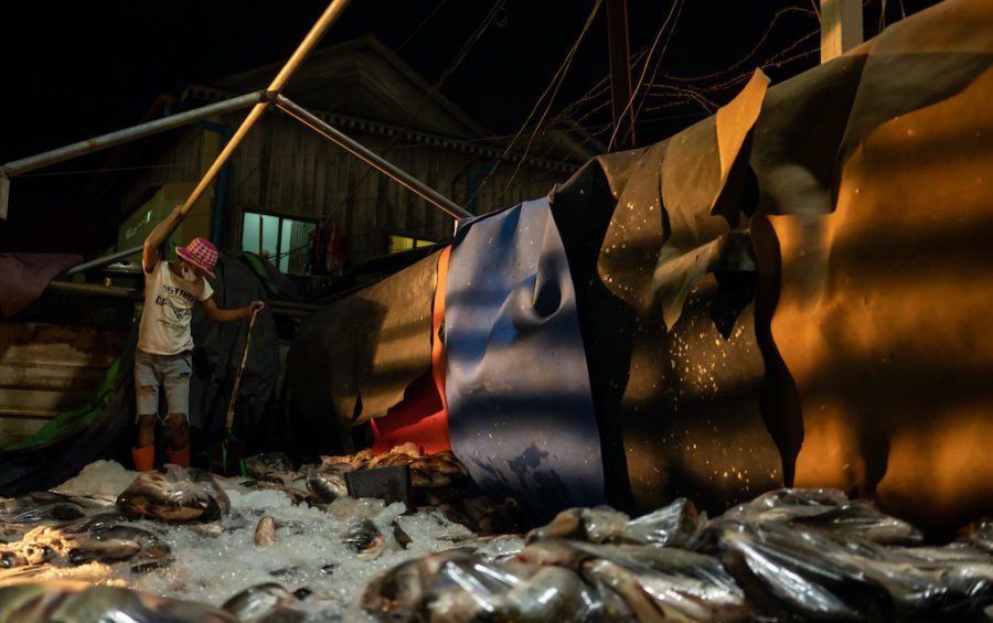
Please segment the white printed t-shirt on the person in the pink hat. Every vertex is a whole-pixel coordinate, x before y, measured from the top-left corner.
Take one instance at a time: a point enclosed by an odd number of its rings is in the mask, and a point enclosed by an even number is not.
[[[159,261],[145,275],[145,310],[138,326],[138,350],[154,355],[174,355],[193,348],[190,320],[193,305],[205,301],[214,289],[203,277],[191,283]]]

